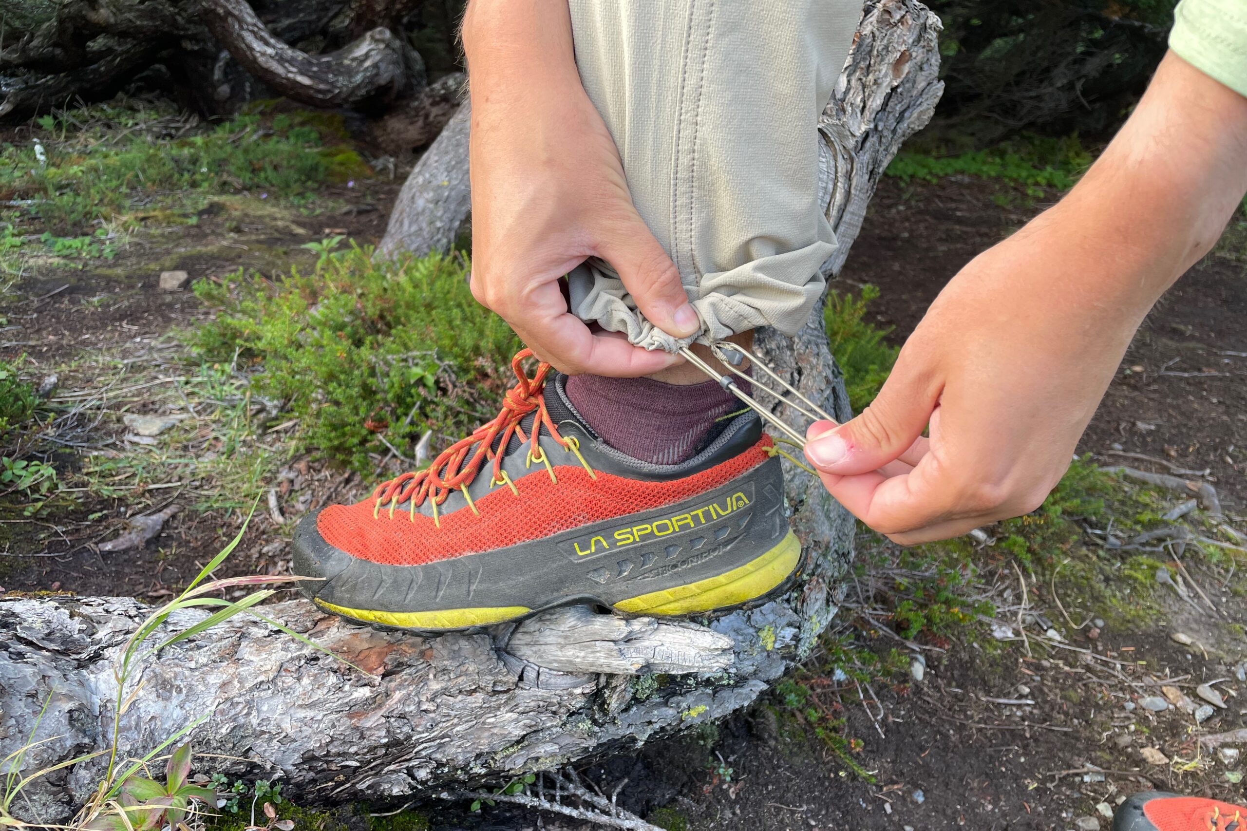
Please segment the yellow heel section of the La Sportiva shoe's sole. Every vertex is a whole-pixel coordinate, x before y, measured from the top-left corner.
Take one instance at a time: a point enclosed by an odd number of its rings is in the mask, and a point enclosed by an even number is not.
[[[646,615],[693,615],[737,606],[783,583],[801,561],[801,540],[792,532],[762,556],[717,576],[621,600],[616,609]]]

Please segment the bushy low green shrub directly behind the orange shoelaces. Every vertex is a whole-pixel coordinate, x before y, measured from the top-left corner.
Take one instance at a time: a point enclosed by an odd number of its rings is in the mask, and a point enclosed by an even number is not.
[[[385,442],[407,455],[426,429],[453,439],[493,417],[511,384],[521,344],[465,276],[456,257],[374,261],[352,246],[276,282],[198,281],[219,312],[188,337],[209,362],[253,367],[253,392],[301,420],[306,447],[368,472]]]

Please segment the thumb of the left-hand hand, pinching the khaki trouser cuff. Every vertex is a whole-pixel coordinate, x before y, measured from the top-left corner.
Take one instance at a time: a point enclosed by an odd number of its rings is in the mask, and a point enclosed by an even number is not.
[[[680,282],[680,270],[640,213],[633,210],[627,221],[612,223],[597,248],[602,260],[619,272],[647,321],[677,338],[697,333],[701,322]]]

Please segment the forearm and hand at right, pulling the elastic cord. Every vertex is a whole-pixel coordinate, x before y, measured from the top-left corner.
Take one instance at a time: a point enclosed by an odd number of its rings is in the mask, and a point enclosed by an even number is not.
[[[875,402],[811,428],[827,488],[900,543],[1038,508],[1135,329],[1242,200],[1245,160],[1247,97],[1168,54],[1079,185],[945,286]]]

